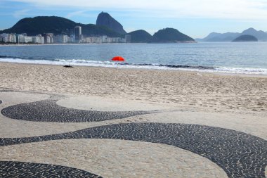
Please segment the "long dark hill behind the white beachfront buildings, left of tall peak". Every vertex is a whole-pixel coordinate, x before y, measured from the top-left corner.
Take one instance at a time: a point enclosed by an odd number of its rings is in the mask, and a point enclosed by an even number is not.
[[[73,34],[75,26],[82,27],[82,34],[86,36],[105,34],[109,37],[121,37],[121,34],[110,30],[108,27],[97,26],[93,24],[75,23],[66,18],[56,16],[39,16],[35,18],[23,18],[13,27],[2,30],[0,33],[27,33],[28,35],[36,35],[43,33],[53,34]]]

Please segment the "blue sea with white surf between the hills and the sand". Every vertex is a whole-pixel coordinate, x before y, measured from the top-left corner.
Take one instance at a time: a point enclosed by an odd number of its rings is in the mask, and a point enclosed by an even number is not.
[[[0,46],[0,62],[267,75],[267,42]]]

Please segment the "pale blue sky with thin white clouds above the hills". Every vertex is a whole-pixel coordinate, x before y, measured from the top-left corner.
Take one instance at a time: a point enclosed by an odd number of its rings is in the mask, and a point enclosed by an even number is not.
[[[126,32],[154,34],[174,27],[193,38],[210,32],[267,31],[267,0],[0,0],[0,30],[22,18],[60,16],[95,24],[98,13],[110,13]]]

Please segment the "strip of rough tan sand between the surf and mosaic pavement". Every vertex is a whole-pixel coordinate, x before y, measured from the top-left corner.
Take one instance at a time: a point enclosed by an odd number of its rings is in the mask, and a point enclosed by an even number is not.
[[[200,110],[267,110],[267,76],[0,63],[1,88],[96,95]]]

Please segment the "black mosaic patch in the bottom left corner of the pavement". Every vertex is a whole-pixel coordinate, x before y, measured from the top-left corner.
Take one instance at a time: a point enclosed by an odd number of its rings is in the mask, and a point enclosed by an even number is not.
[[[60,165],[47,165],[39,163],[24,163],[13,161],[0,161],[0,177],[87,177],[101,178],[96,174],[91,174],[84,170]]]

